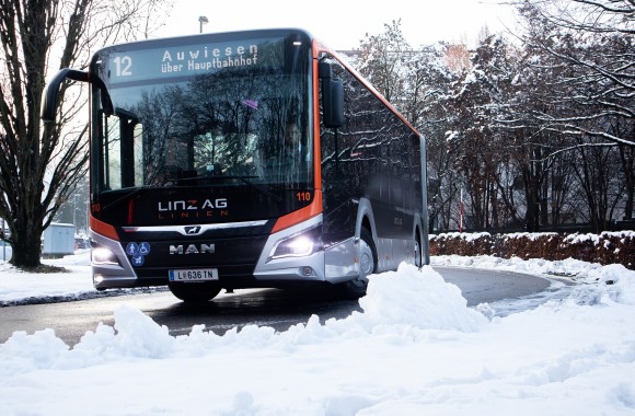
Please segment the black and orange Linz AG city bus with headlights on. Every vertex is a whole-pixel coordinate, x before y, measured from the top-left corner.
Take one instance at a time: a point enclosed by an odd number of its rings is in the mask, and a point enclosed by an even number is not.
[[[323,286],[348,299],[429,263],[425,141],[309,32],[149,39],[96,51],[90,84],[94,287]]]

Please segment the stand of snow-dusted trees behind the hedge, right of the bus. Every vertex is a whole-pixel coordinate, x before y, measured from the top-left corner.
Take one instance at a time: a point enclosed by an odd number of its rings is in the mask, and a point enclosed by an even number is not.
[[[521,44],[484,37],[439,59],[409,48],[397,21],[354,54],[427,138],[429,212],[451,227],[464,187],[473,229],[633,218],[633,1],[518,3]]]

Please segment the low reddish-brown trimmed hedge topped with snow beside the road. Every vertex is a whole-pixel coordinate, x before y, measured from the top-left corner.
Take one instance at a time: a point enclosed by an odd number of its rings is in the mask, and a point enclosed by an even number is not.
[[[581,233],[443,233],[430,235],[430,255],[492,255],[496,257],[576,258],[584,262],[622,264],[635,269],[635,231]]]

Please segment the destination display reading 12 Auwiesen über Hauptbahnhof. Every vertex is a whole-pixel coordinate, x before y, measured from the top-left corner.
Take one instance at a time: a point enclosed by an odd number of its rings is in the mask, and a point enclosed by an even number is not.
[[[282,65],[282,38],[265,38],[125,51],[115,49],[108,56],[108,84],[113,88],[120,83],[192,77],[226,68]]]

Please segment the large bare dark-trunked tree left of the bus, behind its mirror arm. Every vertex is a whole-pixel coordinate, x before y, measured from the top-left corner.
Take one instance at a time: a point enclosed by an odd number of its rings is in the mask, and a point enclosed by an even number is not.
[[[161,15],[155,12],[163,5],[163,0],[0,0],[0,217],[15,266],[41,265],[42,233],[86,172],[86,116],[78,104],[83,90],[64,85],[58,123],[43,127],[45,78],[59,68],[85,68],[101,45],[147,36],[157,28],[149,16]]]

